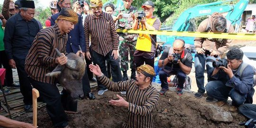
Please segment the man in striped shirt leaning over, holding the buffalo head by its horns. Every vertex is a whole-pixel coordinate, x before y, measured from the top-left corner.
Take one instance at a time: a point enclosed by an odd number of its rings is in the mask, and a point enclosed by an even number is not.
[[[68,125],[67,115],[61,103],[61,96],[56,87],[55,77],[46,76],[57,64],[67,63],[66,42],[74,24],[78,22],[77,14],[69,8],[63,8],[56,19],[56,24],[42,29],[34,39],[25,62],[25,70],[30,82],[40,97],[46,102],[46,110],[56,128]],[[57,57],[57,48],[63,55]],[[78,51],[79,55],[82,51]],[[82,53],[83,54],[83,53]]]

